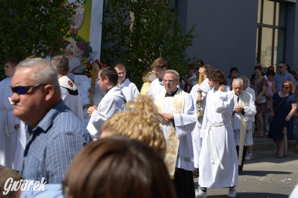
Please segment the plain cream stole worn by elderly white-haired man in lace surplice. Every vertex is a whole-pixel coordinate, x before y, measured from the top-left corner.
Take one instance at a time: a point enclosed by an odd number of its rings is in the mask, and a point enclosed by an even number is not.
[[[234,101],[235,101],[235,92],[232,90],[234,94]],[[242,91],[241,97],[241,106],[248,106],[249,105],[249,93]],[[246,121],[243,120],[243,115],[240,113],[240,134],[239,134],[239,155],[238,155],[238,165],[241,166],[242,164],[242,153],[243,153],[243,145],[246,133]]]

